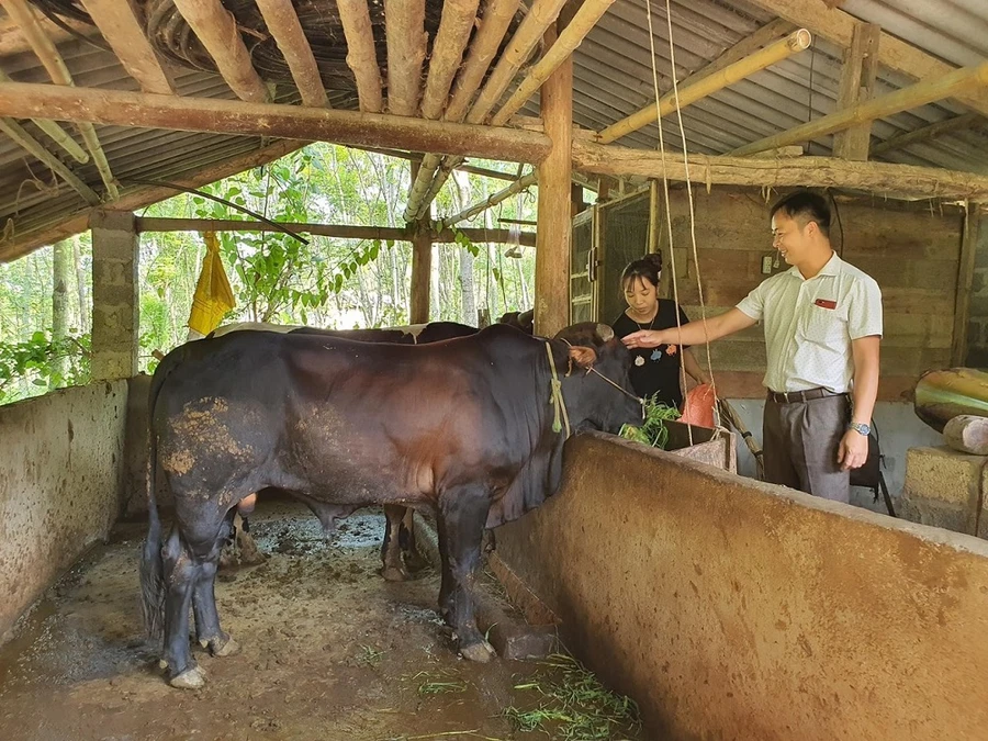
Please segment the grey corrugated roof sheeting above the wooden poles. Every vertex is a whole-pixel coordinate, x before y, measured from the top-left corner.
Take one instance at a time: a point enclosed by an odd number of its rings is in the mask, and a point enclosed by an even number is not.
[[[653,0],[651,4],[659,83],[664,93],[672,86],[666,3]],[[774,20],[771,13],[746,0],[670,0],[670,7],[676,76],[681,81]],[[951,65],[970,66],[988,58],[986,0],[844,0],[841,9],[856,19],[879,24],[885,33]],[[576,124],[599,131],[654,100],[645,12],[645,0],[617,0],[576,50],[573,70]],[[80,87],[138,89],[108,50],[80,40],[59,44],[59,50]],[[816,37],[810,49],[684,109],[687,148],[700,154],[726,154],[832,112],[837,104],[841,55],[841,48]],[[7,56],[0,59],[0,67],[15,80],[48,81],[31,53]],[[902,75],[880,69],[877,94],[909,82]],[[182,96],[234,98],[218,76],[207,72],[181,71],[176,83]],[[337,106],[352,104],[351,92],[332,93],[332,97]],[[281,86],[278,98],[295,102],[297,93],[289,86]],[[537,111],[535,99],[523,112]],[[875,122],[873,143],[963,112],[962,105],[943,101],[888,116]],[[30,122],[24,126],[46,141]],[[66,128],[81,142],[72,127]],[[662,131],[665,146],[680,149],[682,139],[675,115],[663,120]],[[97,132],[114,176],[125,184],[128,179],[178,178],[261,145],[256,137],[216,134],[113,126],[98,126]],[[654,148],[658,139],[659,128],[653,124],[618,144]],[[822,137],[810,144],[809,153],[828,155],[831,146],[832,137]],[[67,157],[60,158],[90,187],[103,191],[91,162],[79,165]],[[878,159],[988,172],[988,121],[980,120],[969,130],[934,141],[889,150]],[[13,220],[18,234],[52,224],[87,206],[75,191],[54,181],[46,167],[4,137],[0,137],[0,221]],[[11,226],[7,228],[9,233]]]

